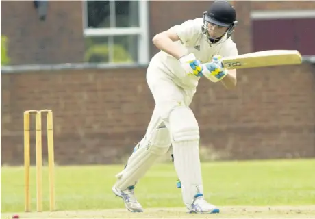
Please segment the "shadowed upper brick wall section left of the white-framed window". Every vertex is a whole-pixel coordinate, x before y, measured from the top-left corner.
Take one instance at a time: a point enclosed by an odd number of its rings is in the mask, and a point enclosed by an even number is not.
[[[81,1],[49,1],[40,21],[33,1],[1,1],[1,34],[8,36],[10,64],[82,62]]]

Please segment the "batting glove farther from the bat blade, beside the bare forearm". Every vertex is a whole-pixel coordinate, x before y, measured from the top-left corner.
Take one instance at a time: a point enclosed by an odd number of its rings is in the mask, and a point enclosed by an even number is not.
[[[201,65],[201,62],[196,59],[193,53],[179,58],[179,62],[181,62],[181,66],[184,68],[187,75],[202,75],[203,66]]]

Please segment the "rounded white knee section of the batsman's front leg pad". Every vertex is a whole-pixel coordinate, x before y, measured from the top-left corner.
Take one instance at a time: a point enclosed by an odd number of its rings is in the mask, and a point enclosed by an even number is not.
[[[169,116],[174,142],[199,140],[199,126],[189,107],[176,107]]]

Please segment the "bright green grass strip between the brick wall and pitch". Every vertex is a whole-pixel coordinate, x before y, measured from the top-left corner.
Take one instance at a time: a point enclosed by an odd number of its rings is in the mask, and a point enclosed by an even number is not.
[[[121,199],[116,198],[111,190],[115,181],[114,175],[121,168],[123,165],[56,166],[55,190],[58,212],[49,213],[47,216],[21,215],[23,218],[27,216],[42,218],[48,217],[50,214],[52,218],[69,218],[73,214],[78,214],[71,213],[76,210],[81,210],[82,215],[90,215],[90,213],[83,212],[93,210],[91,212],[99,215],[100,218],[104,218],[103,214],[110,215],[109,212],[113,214],[111,218],[130,218],[134,214],[130,216],[125,210],[116,210],[124,206]],[[256,211],[256,214],[260,214],[261,209],[261,216],[266,214],[270,217],[273,216],[273,214],[270,215],[272,212],[272,209],[269,209],[270,206],[283,206],[286,209],[288,205],[295,205],[292,208],[288,207],[288,209],[292,209],[290,212],[293,212],[294,209],[306,212],[305,214],[297,213],[299,216],[307,216],[307,212],[315,216],[315,207],[310,207],[310,205],[315,205],[315,159],[211,162],[203,163],[202,168],[205,197],[211,203],[225,209],[228,214],[220,214],[222,216],[229,218],[231,213],[231,217],[233,217],[233,211],[247,212],[244,206],[261,206],[255,208],[253,214]],[[45,211],[48,211],[48,169],[45,167],[43,170],[43,206]],[[24,211],[23,174],[23,167],[3,166],[1,168],[2,213]],[[181,216],[181,212],[184,212],[185,209],[182,209],[181,190],[176,188],[176,179],[173,164],[157,164],[138,183],[136,188],[138,201],[145,209],[149,209],[150,218],[186,217],[186,214]],[[306,209],[302,207],[302,210],[301,205],[305,205]],[[307,205],[309,206],[307,207]],[[31,168],[31,207],[33,211],[36,210],[35,168]],[[168,210],[168,208],[177,207],[181,208],[174,209],[174,211]],[[106,209],[112,210],[104,211]],[[252,208],[248,208],[248,212],[251,212],[249,209]],[[68,211],[67,216],[66,211]],[[179,212],[180,215],[177,215],[176,212]],[[282,210],[275,210],[275,212],[279,213]],[[160,215],[164,213],[165,215]],[[8,215],[3,214],[3,216]],[[242,215],[246,216],[246,214]],[[145,217],[145,214],[139,217],[143,216]],[[277,214],[275,214],[276,216]],[[80,218],[80,215],[75,217]],[[97,216],[95,217],[97,218]],[[290,217],[290,214],[287,217]]]

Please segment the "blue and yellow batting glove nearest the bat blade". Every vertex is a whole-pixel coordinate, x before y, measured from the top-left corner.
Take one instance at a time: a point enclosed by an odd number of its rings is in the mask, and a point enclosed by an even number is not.
[[[214,83],[222,80],[229,72],[223,67],[222,62],[220,61],[221,59],[222,56],[214,55],[214,57],[212,57],[212,62],[203,64],[203,75]]]

